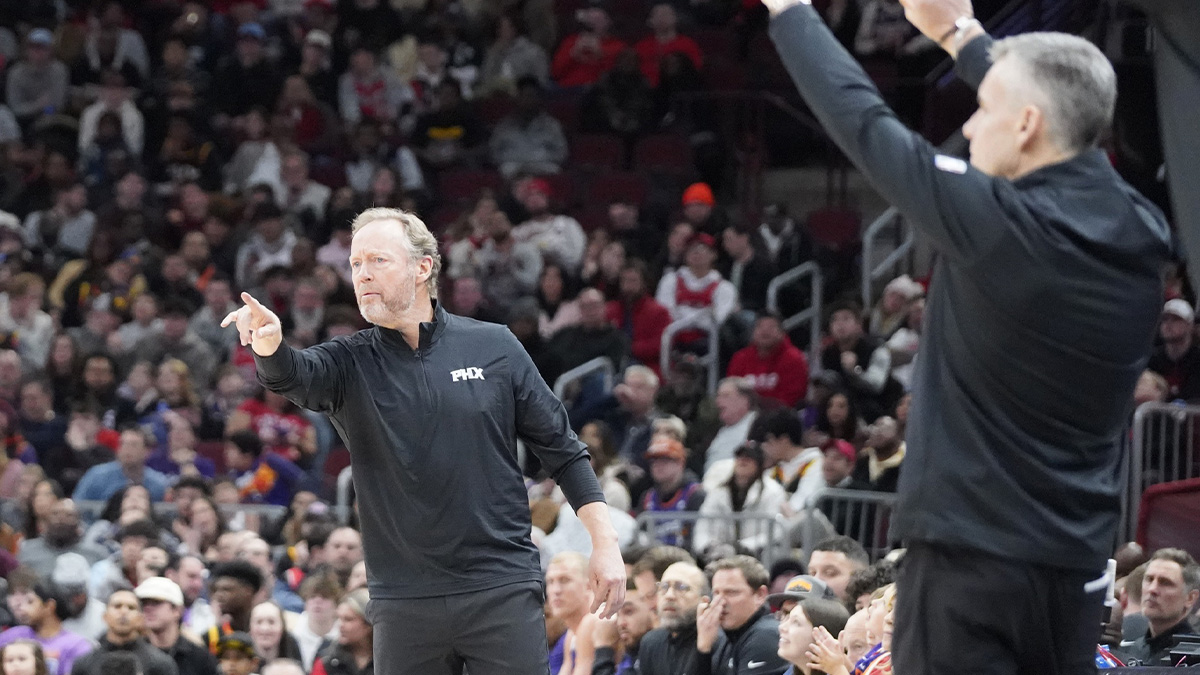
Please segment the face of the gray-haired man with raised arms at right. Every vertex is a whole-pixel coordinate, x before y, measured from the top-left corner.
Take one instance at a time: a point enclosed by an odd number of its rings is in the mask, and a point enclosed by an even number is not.
[[[1022,84],[1020,65],[1001,59],[979,84],[979,109],[962,127],[971,142],[971,165],[988,175],[1016,178],[1021,154],[1044,125],[1040,110],[1027,104],[1032,88]]]

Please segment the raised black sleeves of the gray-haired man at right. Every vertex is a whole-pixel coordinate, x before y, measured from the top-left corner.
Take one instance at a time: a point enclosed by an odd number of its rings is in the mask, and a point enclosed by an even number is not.
[[[940,155],[888,108],[862,66],[838,43],[821,17],[796,5],[770,22],[770,37],[792,80],[830,138],[943,255],[985,256],[1003,232],[997,190],[1007,185],[962,160]],[[967,49],[965,76],[982,77]]]

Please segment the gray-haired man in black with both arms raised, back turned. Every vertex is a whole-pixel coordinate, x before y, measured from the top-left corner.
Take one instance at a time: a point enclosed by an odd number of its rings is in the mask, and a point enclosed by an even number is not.
[[[766,0],[809,107],[940,253],[893,532],[896,673],[1092,673],[1117,436],[1172,251],[1096,148],[1116,76],[1088,42],[994,42],[970,0],[901,0],[978,89],[970,165],[908,131],[802,0]]]

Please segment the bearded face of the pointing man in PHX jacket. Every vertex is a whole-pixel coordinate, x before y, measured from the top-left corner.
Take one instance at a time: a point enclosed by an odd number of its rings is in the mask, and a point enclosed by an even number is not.
[[[430,273],[422,267],[413,261],[398,221],[377,220],[358,231],[350,241],[350,270],[362,318],[396,328],[416,303],[418,281],[425,286]]]

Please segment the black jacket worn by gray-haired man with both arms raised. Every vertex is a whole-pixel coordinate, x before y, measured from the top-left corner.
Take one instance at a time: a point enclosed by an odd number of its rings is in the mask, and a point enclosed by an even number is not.
[[[770,36],[830,137],[940,253],[893,534],[1099,574],[1172,255],[1163,214],[1097,149],[1016,180],[938,155],[810,6]],[[990,46],[959,53],[971,86]]]

